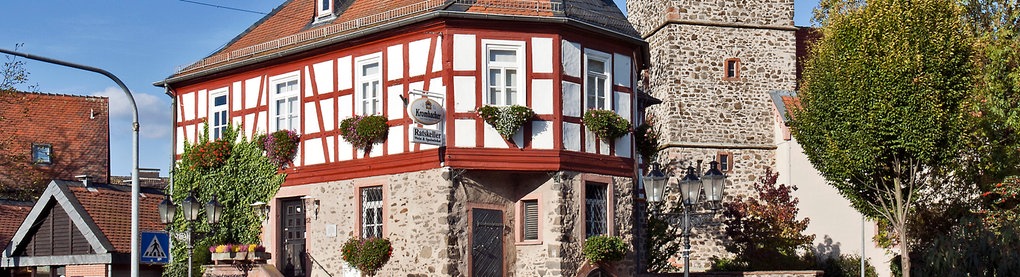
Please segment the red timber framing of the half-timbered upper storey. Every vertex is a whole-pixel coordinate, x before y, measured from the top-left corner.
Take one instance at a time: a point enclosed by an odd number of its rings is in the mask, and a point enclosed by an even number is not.
[[[454,56],[464,54],[454,53],[453,38],[454,35],[458,34],[474,36],[475,49],[473,54],[475,64],[473,70],[454,70]],[[532,50],[534,46],[532,45],[532,39],[534,38],[552,41],[552,72],[533,72]],[[425,61],[424,74],[409,76],[411,74],[409,56],[412,55],[411,51],[413,50],[410,49],[412,46],[411,43],[425,39],[429,40],[427,46],[429,50],[427,51],[428,57]],[[483,79],[482,74],[486,68],[486,57],[482,56],[482,40],[519,41],[523,43],[525,62],[522,68],[526,73],[522,88],[524,88],[523,91],[525,92],[524,99],[526,99],[526,105],[533,106],[537,104],[534,101],[540,101],[532,100],[531,94],[534,92],[534,88],[531,88],[532,80],[548,79],[552,81],[551,99],[554,101],[550,106],[553,109],[553,113],[542,114],[534,119],[550,122],[551,137],[553,140],[552,149],[533,148],[534,142],[531,142],[533,135],[531,134],[530,124],[526,124],[523,127],[525,138],[524,142],[521,142],[523,144],[522,148],[518,148],[510,143],[507,143],[508,148],[484,148],[483,135],[486,123],[483,120],[474,112],[455,112],[455,76],[470,76],[474,78],[474,104],[475,107],[482,105],[484,90],[481,80]],[[630,79],[629,84],[631,86],[635,86],[636,79],[633,79],[634,74],[632,72],[638,70],[638,61],[641,59],[636,56],[636,53],[640,53],[642,46],[635,45],[632,42],[610,39],[604,35],[591,33],[586,30],[560,24],[537,22],[505,24],[495,22],[489,25],[481,25],[477,20],[434,19],[396,31],[352,39],[344,43],[310,50],[296,56],[282,57],[259,64],[240,67],[204,77],[203,79],[191,80],[190,84],[184,86],[177,85],[181,87],[173,89],[174,92],[178,93],[176,95],[177,103],[193,105],[188,109],[183,105],[180,105],[177,108],[178,118],[176,127],[182,127],[178,129],[184,131],[178,137],[197,137],[196,134],[190,132],[202,130],[201,126],[205,122],[206,117],[198,117],[198,115],[199,111],[202,110],[204,111],[204,116],[208,116],[208,101],[200,101],[198,98],[208,97],[208,95],[207,93],[199,95],[199,92],[209,92],[222,88],[227,88],[227,99],[231,100],[228,101],[230,106],[227,109],[232,122],[244,125],[242,130],[245,130],[245,135],[248,137],[253,137],[258,132],[265,132],[272,125],[270,123],[271,115],[269,114],[269,93],[271,90],[269,78],[299,71],[302,145],[299,160],[294,161],[295,166],[286,169],[288,178],[285,185],[413,172],[441,167],[444,165],[441,161],[445,161],[446,166],[465,169],[501,171],[575,170],[615,176],[631,176],[633,174],[633,160],[630,157],[617,157],[615,155],[616,150],[612,146],[610,146],[609,153],[593,154],[564,150],[563,142],[564,138],[567,138],[563,137],[564,122],[581,123],[579,117],[563,116],[564,105],[583,104],[563,103],[563,86],[561,84],[562,81],[570,81],[582,85],[584,75],[583,70],[579,77],[569,76],[564,72],[562,65],[562,42],[564,40],[580,45],[581,56],[577,59],[581,63],[584,60],[584,49],[629,56],[631,67],[633,67],[630,70],[631,73],[627,76],[616,76],[614,78],[626,77]],[[404,68],[402,68],[399,78],[391,79],[389,74],[391,69],[389,68],[389,60],[394,58],[390,57],[394,53],[389,51],[389,47],[397,45],[401,46],[401,52],[399,53],[404,55],[404,57],[401,57]],[[441,67],[439,71],[434,71],[432,68],[436,66],[434,62],[437,61],[435,55],[438,54],[437,49],[441,50],[439,54],[442,57],[438,61],[442,62],[442,64],[439,65]],[[358,105],[355,100],[355,88],[357,84],[354,79],[357,63],[353,60],[373,53],[380,53],[381,55],[379,61],[381,66],[380,87],[384,92],[382,115],[390,117],[389,124],[391,126],[400,126],[400,128],[396,129],[401,130],[403,133],[401,133],[402,135],[391,133],[391,138],[388,142],[373,147],[381,150],[381,156],[372,155],[371,157],[366,157],[359,155],[357,150],[343,150],[341,148],[343,138],[340,137],[339,125],[340,121],[347,118],[347,114],[350,114],[349,111],[354,111],[355,105]],[[350,58],[352,61],[342,64],[338,62],[338,59],[341,58]],[[322,84],[316,81],[316,76],[329,73],[320,72],[315,68],[315,64],[323,62],[328,62],[333,68],[330,72],[334,75],[332,76],[332,86],[329,86],[332,88],[321,88],[326,86],[321,86]],[[350,67],[338,68],[339,66]],[[350,82],[350,86],[342,86],[340,84],[341,79],[336,70],[347,70],[350,72],[351,79],[345,79],[345,81]],[[250,79],[258,79],[258,87],[252,88],[248,86]],[[443,84],[432,84],[436,79],[441,79]],[[238,86],[238,84],[241,86]],[[407,116],[406,111],[402,109],[403,115],[389,114],[388,103],[400,101],[398,95],[389,92],[389,88],[399,86],[403,91],[402,96],[408,97],[407,92],[409,89],[412,86],[418,86],[417,84],[420,84],[425,91],[434,90],[437,87],[446,88],[447,98],[445,105],[448,111],[446,118],[446,141],[447,145],[450,146],[446,149],[423,149],[420,145],[408,143],[410,135],[408,128],[413,123]],[[257,90],[257,93],[253,93],[253,90]],[[636,98],[634,97],[632,88],[614,85],[609,92],[609,96],[612,98],[617,97],[613,92],[624,93],[622,95],[630,98],[629,103],[631,103],[631,106],[629,110],[632,114],[634,112],[633,109],[636,108],[633,105],[636,102]],[[236,96],[236,94],[241,95]],[[252,97],[257,99],[249,99]],[[350,101],[342,103],[341,98],[345,97],[349,98]],[[583,97],[583,90],[581,90],[581,97]],[[190,100],[185,101],[188,98]],[[235,101],[239,101],[239,103],[235,103]],[[614,100],[609,99],[607,101]],[[256,103],[256,105],[254,107],[247,105],[249,102]],[[333,105],[332,114],[323,114],[324,104]],[[344,104],[350,106],[341,107]],[[318,112],[314,115],[305,113],[306,107],[314,107]],[[583,107],[580,108],[583,111]],[[193,114],[186,115],[185,113],[189,109]],[[314,119],[315,121],[312,121],[309,120],[310,118],[306,118],[307,116],[317,116],[317,118]],[[329,120],[324,120],[326,117]],[[183,120],[182,118],[189,119]],[[474,120],[474,147],[454,147],[454,140],[457,137],[457,132],[464,131],[455,128],[458,119]],[[312,123],[316,125],[310,125]],[[314,132],[304,131],[312,126],[318,130]],[[580,136],[582,136],[579,138],[580,145],[583,147],[583,131]],[[393,144],[391,142],[394,140],[393,137],[403,140],[402,152],[398,148],[397,150],[400,153],[390,153],[390,144]],[[174,137],[174,140],[178,138]],[[191,142],[191,140],[189,141]],[[311,142],[316,143],[311,144]],[[175,143],[180,144],[181,142]],[[307,163],[310,148],[321,148],[323,150],[324,157],[318,161],[322,163],[316,162],[316,164],[310,165]],[[352,151],[353,153],[344,153],[342,151]],[[353,159],[350,159],[350,157],[353,157]]]

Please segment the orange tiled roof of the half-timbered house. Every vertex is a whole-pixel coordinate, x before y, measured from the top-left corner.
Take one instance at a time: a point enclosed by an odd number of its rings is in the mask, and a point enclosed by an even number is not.
[[[644,42],[609,0],[339,0],[336,16],[315,16],[315,0],[288,0],[209,57],[156,86],[211,74],[259,58],[284,56],[436,17],[574,23]]]

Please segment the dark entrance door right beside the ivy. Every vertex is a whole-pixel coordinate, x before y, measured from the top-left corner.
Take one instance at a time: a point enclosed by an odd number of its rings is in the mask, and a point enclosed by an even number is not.
[[[280,221],[283,231],[279,232],[282,272],[284,276],[307,276],[305,270],[305,210],[300,199],[282,202]]]

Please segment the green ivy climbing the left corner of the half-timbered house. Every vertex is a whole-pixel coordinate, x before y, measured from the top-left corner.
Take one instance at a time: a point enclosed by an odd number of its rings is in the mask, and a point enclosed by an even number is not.
[[[262,135],[258,135],[262,136]],[[264,155],[260,137],[248,140],[238,136],[238,128],[228,127],[220,138],[233,144],[230,157],[215,167],[198,167],[189,164],[190,160],[181,160],[173,168],[173,191],[171,198],[178,207],[191,191],[202,205],[202,213],[192,226],[194,227],[194,272],[202,275],[202,265],[209,264],[209,245],[228,242],[259,243],[259,233],[262,221],[257,213],[252,211],[251,204],[255,202],[268,203],[279,185],[284,183],[286,174],[277,174],[277,167]],[[185,143],[185,153],[198,151],[196,146],[209,143],[209,130],[199,135],[195,144]],[[216,197],[223,206],[219,223],[210,226],[207,223],[205,204]],[[184,212],[178,208],[176,217],[170,226],[173,233],[184,233],[189,222],[184,218]],[[171,235],[172,237],[172,235]],[[188,275],[188,241],[182,236],[174,240],[170,250],[172,261],[163,271],[163,276]]]

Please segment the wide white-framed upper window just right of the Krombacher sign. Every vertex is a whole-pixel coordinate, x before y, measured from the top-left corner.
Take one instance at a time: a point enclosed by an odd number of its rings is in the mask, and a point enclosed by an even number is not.
[[[523,44],[499,42],[486,45],[484,104],[521,105],[523,102]]]

